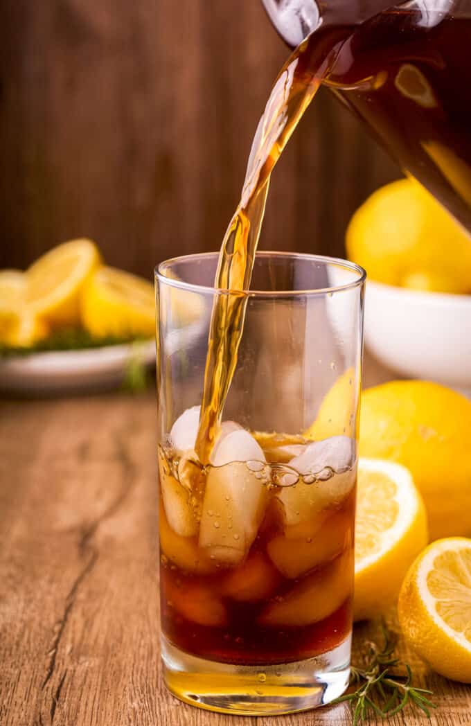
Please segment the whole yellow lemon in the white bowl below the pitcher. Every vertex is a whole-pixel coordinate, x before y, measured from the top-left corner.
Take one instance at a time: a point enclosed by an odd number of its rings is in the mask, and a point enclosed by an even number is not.
[[[377,189],[353,215],[346,246],[385,285],[471,292],[471,237],[414,179]]]

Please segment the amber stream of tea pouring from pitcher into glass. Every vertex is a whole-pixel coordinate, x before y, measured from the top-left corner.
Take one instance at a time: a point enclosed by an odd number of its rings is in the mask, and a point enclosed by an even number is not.
[[[258,123],[247,163],[242,198],[229,224],[221,251],[210,322],[208,355],[196,452],[208,463],[222,409],[237,365],[255,250],[260,237],[271,171],[304,111],[329,71],[345,37],[338,30],[329,44],[304,41],[284,64]],[[229,292],[230,291],[230,292]]]

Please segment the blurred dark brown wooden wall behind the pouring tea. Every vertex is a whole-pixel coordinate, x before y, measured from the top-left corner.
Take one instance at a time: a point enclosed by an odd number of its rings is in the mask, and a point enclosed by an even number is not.
[[[287,48],[259,0],[4,0],[0,266],[71,237],[150,277],[221,243]],[[261,246],[343,254],[396,167],[322,90],[274,173]]]

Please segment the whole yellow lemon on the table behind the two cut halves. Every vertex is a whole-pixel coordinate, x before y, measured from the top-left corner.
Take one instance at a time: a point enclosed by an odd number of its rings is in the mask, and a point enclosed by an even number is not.
[[[471,401],[420,380],[364,391],[360,455],[411,471],[427,509],[430,539],[471,534]]]

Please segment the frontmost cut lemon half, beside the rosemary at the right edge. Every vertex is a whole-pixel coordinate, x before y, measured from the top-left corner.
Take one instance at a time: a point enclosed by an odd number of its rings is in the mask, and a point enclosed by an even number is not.
[[[406,640],[436,672],[471,683],[471,539],[438,539],[419,555],[398,616]]]

